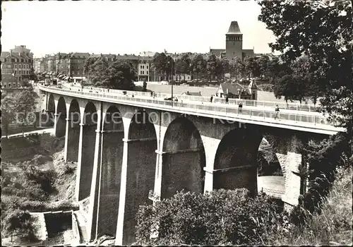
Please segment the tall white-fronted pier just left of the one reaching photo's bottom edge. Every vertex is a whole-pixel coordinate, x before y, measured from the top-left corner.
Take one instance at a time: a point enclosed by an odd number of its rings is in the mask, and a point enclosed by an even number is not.
[[[97,164],[92,175],[88,234],[97,239],[102,234],[116,234],[119,209],[124,131],[100,131]],[[96,139],[96,140],[98,140]],[[121,141],[119,141],[121,140]]]

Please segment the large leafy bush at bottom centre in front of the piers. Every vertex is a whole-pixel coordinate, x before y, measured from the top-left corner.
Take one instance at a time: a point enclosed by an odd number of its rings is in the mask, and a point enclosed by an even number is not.
[[[251,198],[245,189],[179,192],[140,206],[136,239],[141,245],[263,244],[275,211],[265,195]],[[155,238],[150,239],[151,232]]]

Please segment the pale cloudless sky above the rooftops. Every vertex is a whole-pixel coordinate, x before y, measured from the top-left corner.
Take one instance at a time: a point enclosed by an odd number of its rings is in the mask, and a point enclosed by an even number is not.
[[[271,52],[255,1],[3,1],[1,45],[25,45],[35,57],[57,52],[139,54],[225,49],[237,20],[243,49]]]

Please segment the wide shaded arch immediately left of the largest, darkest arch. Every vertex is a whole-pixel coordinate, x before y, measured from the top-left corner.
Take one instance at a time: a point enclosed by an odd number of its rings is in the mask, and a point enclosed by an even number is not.
[[[198,129],[185,117],[169,124],[163,140],[161,198],[177,191],[203,193],[205,149]]]

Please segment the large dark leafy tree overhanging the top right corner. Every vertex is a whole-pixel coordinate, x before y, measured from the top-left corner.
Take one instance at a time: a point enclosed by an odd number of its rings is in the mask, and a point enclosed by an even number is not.
[[[323,111],[332,121],[352,128],[352,3],[350,1],[259,1],[271,49],[282,59],[309,57],[310,71],[325,89]],[[286,30],[286,32],[283,32]]]

